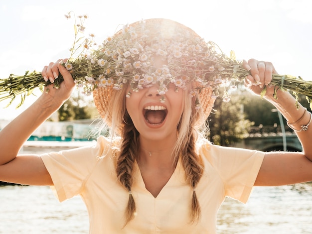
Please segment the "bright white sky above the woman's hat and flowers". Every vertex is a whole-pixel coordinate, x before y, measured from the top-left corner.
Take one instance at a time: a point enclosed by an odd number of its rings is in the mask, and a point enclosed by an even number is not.
[[[270,61],[280,74],[312,80],[311,10],[311,0],[0,0],[0,78],[68,58],[74,19],[64,15],[73,11],[88,15],[85,35],[95,34],[97,43],[120,24],[168,18],[227,55],[235,51],[238,60]],[[0,102],[0,119],[11,120],[36,98],[27,97],[18,109],[19,99],[8,108],[8,101]]]

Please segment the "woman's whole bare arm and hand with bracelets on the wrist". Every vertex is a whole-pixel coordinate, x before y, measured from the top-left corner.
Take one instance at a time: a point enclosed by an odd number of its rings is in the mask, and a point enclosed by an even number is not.
[[[296,108],[296,100],[289,92],[278,91],[277,97],[273,97],[274,87],[269,84],[272,73],[277,74],[272,63],[251,59],[244,64],[251,71],[247,77],[245,86],[255,94],[260,95],[263,87],[267,86],[264,98],[272,103],[287,119],[291,127],[296,129],[296,134],[302,144],[303,152],[268,152],[260,168],[255,185],[277,186],[312,181],[312,124],[310,112],[299,104]]]

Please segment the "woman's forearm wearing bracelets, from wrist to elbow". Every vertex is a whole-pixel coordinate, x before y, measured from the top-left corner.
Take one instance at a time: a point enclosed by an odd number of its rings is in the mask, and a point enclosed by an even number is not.
[[[301,130],[302,125],[309,123],[311,115],[301,104],[299,104],[299,109],[297,110],[296,99],[290,93],[279,91],[277,97],[277,100],[273,97],[266,99],[281,112],[281,114],[288,120],[288,122],[295,123],[292,125],[293,128]],[[308,127],[307,131],[302,130],[300,132],[295,132],[302,144],[306,157],[312,161],[312,124]]]

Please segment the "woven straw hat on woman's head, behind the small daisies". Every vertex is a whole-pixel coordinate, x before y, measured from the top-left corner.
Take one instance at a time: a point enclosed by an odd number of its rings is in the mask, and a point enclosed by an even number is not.
[[[131,38],[132,36],[134,38]],[[131,44],[129,42],[131,40],[135,41],[135,43]],[[116,45],[115,48],[111,46],[109,52],[118,51],[119,56],[124,56],[122,60],[124,63],[120,65],[120,69],[115,69],[115,74],[110,74],[118,82],[106,86],[99,85],[93,91],[95,106],[100,116],[105,119],[109,126],[112,121],[111,99],[115,92],[120,92],[125,83],[131,85],[132,92],[137,92],[139,89],[157,83],[159,84],[159,93],[165,96],[166,85],[169,82],[174,83],[176,87],[182,88],[187,83],[194,82],[198,84],[195,89],[196,103],[202,109],[204,118],[206,119],[209,116],[216,95],[214,94],[213,85],[207,83],[204,79],[200,79],[200,76],[204,77],[206,75],[205,71],[202,72],[197,68],[199,67],[198,63],[201,62],[198,57],[203,57],[203,54],[206,55],[209,50],[206,50],[204,40],[192,29],[169,19],[147,19],[126,25],[110,38],[109,42],[110,45],[112,43]],[[168,64],[164,71],[158,72],[157,68],[149,66],[151,64],[149,59],[155,55],[162,56]],[[148,58],[146,59],[143,56]],[[141,64],[135,64],[136,60]],[[140,71],[138,73],[135,73],[133,69],[136,65],[140,66],[140,69],[135,70]],[[201,66],[204,65],[201,62]],[[132,66],[131,78],[129,78],[130,73],[125,74],[123,72],[122,74],[126,77],[124,79],[122,76],[118,77],[116,75],[117,71],[126,70],[122,70],[123,66]],[[209,65],[206,64],[206,66]],[[202,70],[207,70],[207,68]],[[141,79],[136,79],[136,75],[140,76]],[[130,95],[131,93],[127,96]]]

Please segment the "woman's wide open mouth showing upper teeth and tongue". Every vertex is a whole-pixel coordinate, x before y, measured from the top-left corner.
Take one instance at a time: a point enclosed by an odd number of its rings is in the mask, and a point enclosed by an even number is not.
[[[167,109],[163,106],[148,106],[143,110],[143,115],[150,124],[161,124],[167,116]]]

